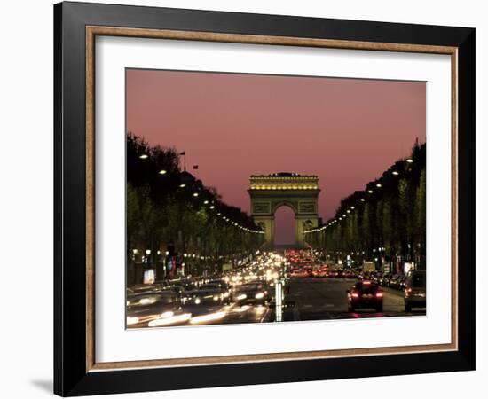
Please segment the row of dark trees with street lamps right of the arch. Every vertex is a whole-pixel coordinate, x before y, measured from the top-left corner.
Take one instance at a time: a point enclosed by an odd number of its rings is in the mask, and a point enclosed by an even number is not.
[[[335,216],[306,234],[307,242],[329,256],[358,263],[385,264],[401,271],[403,262],[425,268],[426,145],[341,200]]]

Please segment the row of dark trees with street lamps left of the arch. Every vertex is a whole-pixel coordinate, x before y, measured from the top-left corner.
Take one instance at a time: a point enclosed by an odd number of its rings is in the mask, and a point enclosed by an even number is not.
[[[173,277],[169,260],[194,276],[263,245],[250,216],[181,170],[177,149],[128,133],[126,153],[128,286],[140,282],[148,267],[156,279]]]

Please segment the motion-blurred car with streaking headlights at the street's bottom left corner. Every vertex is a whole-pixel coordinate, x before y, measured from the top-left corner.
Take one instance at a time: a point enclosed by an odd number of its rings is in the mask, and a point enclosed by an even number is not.
[[[127,325],[141,325],[181,313],[181,302],[171,291],[127,295]]]

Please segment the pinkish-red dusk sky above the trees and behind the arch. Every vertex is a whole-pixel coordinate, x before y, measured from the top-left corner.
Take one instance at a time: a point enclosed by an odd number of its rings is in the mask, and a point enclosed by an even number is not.
[[[425,82],[127,71],[127,131],[186,153],[186,166],[249,213],[249,176],[319,176],[319,216],[425,142]],[[277,243],[293,241],[279,209]]]

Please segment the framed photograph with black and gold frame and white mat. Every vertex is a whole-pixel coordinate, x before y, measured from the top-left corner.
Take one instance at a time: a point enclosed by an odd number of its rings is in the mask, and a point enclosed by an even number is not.
[[[475,368],[475,29],[54,6],[54,391]]]

